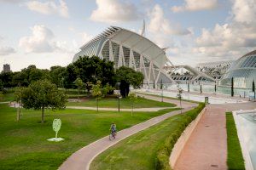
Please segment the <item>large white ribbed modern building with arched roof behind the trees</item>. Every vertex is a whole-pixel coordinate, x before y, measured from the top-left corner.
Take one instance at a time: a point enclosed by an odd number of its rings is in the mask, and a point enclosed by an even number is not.
[[[164,66],[171,63],[166,56],[166,48],[160,48],[142,34],[111,26],[102,34],[90,40],[73,57],[73,62],[83,56],[98,56],[113,61],[114,67],[128,66],[141,71],[146,84],[173,83]],[[171,63],[172,65],[172,63]]]

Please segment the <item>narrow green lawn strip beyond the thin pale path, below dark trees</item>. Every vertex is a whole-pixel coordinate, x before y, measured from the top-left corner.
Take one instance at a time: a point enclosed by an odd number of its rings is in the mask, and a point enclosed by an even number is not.
[[[67,105],[76,105],[76,106],[87,106],[87,107],[96,107],[96,99],[87,98],[82,102],[69,102]],[[134,108],[148,108],[148,107],[174,107],[176,105],[154,101],[151,99],[137,98],[134,103]],[[117,98],[104,98],[99,100],[99,107],[111,107],[118,108],[118,99]],[[131,108],[130,99],[120,99],[120,108]]]

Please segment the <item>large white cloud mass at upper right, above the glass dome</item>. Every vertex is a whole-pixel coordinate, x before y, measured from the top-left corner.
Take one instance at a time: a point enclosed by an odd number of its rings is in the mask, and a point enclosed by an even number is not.
[[[212,30],[202,29],[195,42],[195,52],[208,56],[236,59],[256,48],[256,1],[233,0],[229,24],[216,25]],[[246,9],[245,9],[246,8]]]

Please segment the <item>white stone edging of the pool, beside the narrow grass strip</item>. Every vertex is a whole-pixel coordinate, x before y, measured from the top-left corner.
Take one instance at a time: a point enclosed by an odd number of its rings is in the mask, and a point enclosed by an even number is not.
[[[256,109],[255,110],[248,110],[248,111],[240,110],[240,111],[233,111],[232,112],[234,120],[235,120],[235,124],[236,124],[238,139],[239,139],[239,142],[241,144],[241,153],[242,153],[243,159],[245,161],[245,167],[246,167],[247,170],[253,170],[253,163],[251,161],[251,157],[250,157],[249,152],[247,150],[247,144],[245,143],[245,140],[242,137],[241,124],[238,120],[237,114],[251,113],[251,112],[256,112]]]

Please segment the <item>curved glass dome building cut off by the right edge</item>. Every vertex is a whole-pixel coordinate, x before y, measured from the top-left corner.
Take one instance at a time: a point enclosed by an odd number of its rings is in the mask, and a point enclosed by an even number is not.
[[[234,78],[235,88],[252,88],[256,81],[256,50],[237,59],[221,78],[221,86],[231,86]]]

